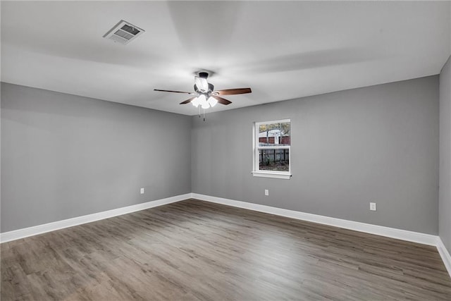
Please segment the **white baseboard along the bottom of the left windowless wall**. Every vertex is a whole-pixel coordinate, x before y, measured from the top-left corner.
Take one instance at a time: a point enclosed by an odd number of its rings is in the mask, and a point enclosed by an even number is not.
[[[145,202],[141,204],[135,204],[118,209],[111,209],[108,211],[97,212],[94,214],[88,214],[84,216],[77,216],[72,219],[64,219],[62,221],[54,221],[52,223],[44,223],[43,225],[32,226],[29,228],[18,229],[5,233],[0,233],[0,242],[8,242],[11,240],[18,240],[20,238],[26,238],[28,236],[42,234],[50,231],[55,231],[63,228],[81,225],[82,223],[91,223],[92,221],[99,221],[101,219],[109,219],[113,216],[123,215],[149,209],[152,207],[161,206],[164,204],[171,204],[174,202],[182,201],[183,199],[189,199],[190,193],[185,195],[176,195],[175,197],[166,197],[166,199],[156,199],[154,201]]]

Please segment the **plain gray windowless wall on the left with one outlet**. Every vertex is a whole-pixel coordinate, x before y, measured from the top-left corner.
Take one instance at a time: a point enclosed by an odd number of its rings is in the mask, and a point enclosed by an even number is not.
[[[190,192],[190,127],[189,116],[2,83],[1,232]]]

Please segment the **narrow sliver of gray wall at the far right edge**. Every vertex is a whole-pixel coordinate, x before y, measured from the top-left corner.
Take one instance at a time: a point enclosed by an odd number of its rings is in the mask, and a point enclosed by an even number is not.
[[[439,235],[451,252],[451,57],[440,73]]]

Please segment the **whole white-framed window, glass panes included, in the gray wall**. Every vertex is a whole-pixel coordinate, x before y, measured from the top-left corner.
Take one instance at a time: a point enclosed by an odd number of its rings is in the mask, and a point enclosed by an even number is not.
[[[290,119],[254,124],[254,176],[291,177]]]

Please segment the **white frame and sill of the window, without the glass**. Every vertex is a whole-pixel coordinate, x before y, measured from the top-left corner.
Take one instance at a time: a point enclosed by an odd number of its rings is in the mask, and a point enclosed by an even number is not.
[[[290,123],[290,145],[288,146],[280,146],[280,147],[260,147],[259,146],[259,128],[262,124],[271,124],[271,123]],[[252,176],[254,177],[263,177],[263,178],[278,178],[278,179],[285,179],[289,180],[291,178],[291,119],[280,119],[276,121],[261,121],[261,122],[254,122],[254,130],[252,139],[254,141],[253,143],[253,152],[254,155],[252,156],[253,159],[253,170],[252,170]],[[260,149],[288,149],[288,160],[290,162],[290,165],[288,166],[288,171],[261,171],[260,165],[259,165],[259,150]]]

